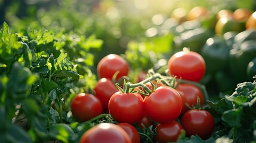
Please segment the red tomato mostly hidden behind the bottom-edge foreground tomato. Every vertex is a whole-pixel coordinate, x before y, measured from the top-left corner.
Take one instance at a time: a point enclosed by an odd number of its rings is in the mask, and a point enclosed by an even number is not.
[[[140,134],[134,126],[129,123],[118,123],[117,125],[127,132],[132,143],[140,143]]]

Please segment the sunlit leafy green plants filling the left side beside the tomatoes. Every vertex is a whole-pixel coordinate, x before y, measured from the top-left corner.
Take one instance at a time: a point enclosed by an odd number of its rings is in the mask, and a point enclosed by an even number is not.
[[[91,92],[91,48],[102,41],[76,33],[0,30],[0,142],[72,142],[70,101]],[[69,54],[67,54],[69,53]],[[75,126],[75,125],[73,125]],[[87,129],[87,128],[85,128]]]

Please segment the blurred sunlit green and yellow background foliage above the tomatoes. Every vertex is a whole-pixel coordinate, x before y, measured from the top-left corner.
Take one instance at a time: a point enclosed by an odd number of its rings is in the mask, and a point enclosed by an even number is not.
[[[238,27],[216,30],[221,10],[239,8],[256,11],[255,0],[0,0],[0,24],[7,22],[11,32],[27,29],[50,30],[66,35],[95,36],[101,48],[91,48],[94,67],[107,54],[121,54],[131,70],[166,69],[166,62],[184,46],[201,53],[208,38],[224,32],[245,30]],[[221,14],[225,15],[225,14]],[[248,17],[247,17],[248,18]],[[234,24],[232,24],[234,25]],[[79,52],[79,51],[78,51]],[[206,73],[202,83],[211,87],[221,82],[218,91],[234,89],[229,70]],[[224,71],[228,71],[227,73]],[[223,82],[226,77],[227,83]],[[214,80],[214,82],[212,82]],[[215,90],[215,89],[213,89]]]

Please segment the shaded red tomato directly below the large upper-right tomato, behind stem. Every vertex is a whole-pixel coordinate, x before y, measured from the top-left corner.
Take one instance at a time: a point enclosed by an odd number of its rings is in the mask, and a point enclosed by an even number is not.
[[[180,93],[182,92],[183,94],[181,95],[181,98],[183,100],[183,108],[181,110],[181,113],[184,113],[187,111],[186,103],[189,104],[190,107],[193,107],[193,105],[198,104],[198,97],[200,99],[200,105],[203,105],[204,98],[203,98],[203,93],[201,89],[198,88],[196,85],[191,85],[188,83],[180,83],[176,90]]]

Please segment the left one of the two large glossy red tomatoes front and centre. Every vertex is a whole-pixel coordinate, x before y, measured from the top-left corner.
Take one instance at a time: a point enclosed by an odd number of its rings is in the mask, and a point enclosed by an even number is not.
[[[118,91],[109,100],[109,113],[118,122],[136,123],[143,112],[143,98],[140,94]]]

